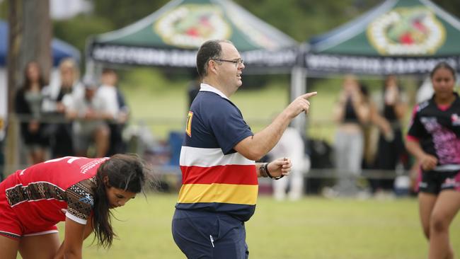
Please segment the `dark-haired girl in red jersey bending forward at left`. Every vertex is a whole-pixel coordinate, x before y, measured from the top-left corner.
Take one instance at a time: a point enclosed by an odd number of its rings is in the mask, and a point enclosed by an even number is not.
[[[1,258],[16,258],[18,251],[24,259],[81,258],[91,232],[109,247],[115,236],[109,209],[134,198],[145,179],[144,163],[122,154],[66,156],[16,171],[0,183]],[[62,244],[59,221],[65,221]]]

